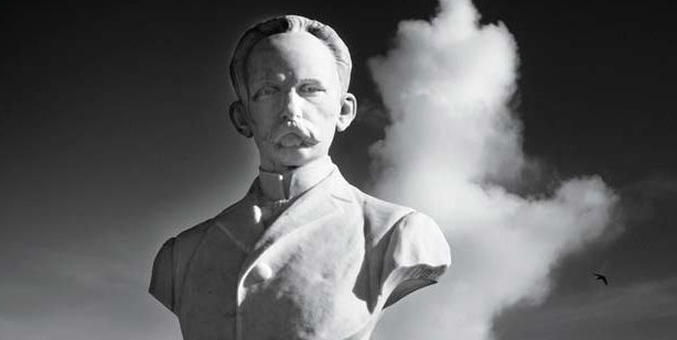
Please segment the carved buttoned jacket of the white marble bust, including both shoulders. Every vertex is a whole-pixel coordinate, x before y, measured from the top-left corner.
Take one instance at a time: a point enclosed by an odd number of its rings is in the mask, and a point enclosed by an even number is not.
[[[439,227],[334,169],[265,231],[254,190],[160,250],[150,292],[185,340],[364,340],[450,263]]]

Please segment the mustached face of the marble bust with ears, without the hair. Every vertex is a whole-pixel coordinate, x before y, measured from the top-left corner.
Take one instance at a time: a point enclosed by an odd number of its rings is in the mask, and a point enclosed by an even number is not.
[[[251,132],[265,169],[286,171],[327,154],[335,131],[355,116],[355,98],[342,91],[334,55],[310,33],[260,41],[246,75],[240,122]]]

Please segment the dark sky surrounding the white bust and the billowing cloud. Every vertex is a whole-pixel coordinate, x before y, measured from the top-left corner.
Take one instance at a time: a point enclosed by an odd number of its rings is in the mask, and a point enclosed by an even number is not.
[[[152,256],[255,177],[255,151],[227,119],[226,70],[258,19],[316,18],[351,47],[352,91],[370,116],[332,155],[369,189],[366,150],[387,116],[375,113],[365,63],[391,46],[400,20],[431,18],[437,2],[283,3],[0,4],[1,339],[118,339],[121,330],[158,339],[175,327],[146,294]],[[514,109],[527,154],[542,161],[535,182],[599,174],[621,195],[615,235],[562,262],[541,306],[502,315],[498,339],[673,339],[671,12],[657,1],[474,3],[482,22],[504,22],[517,41]]]

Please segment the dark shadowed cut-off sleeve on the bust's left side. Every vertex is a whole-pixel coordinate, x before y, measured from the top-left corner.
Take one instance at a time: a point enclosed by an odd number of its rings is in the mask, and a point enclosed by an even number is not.
[[[169,239],[153,261],[153,271],[150,278],[148,292],[157,298],[164,307],[174,310],[174,240]]]

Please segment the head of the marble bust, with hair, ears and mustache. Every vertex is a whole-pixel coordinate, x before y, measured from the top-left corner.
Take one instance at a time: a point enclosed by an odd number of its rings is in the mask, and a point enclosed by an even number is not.
[[[264,169],[283,172],[327,154],[335,132],[355,118],[351,67],[336,32],[303,17],[275,18],[243,35],[230,61],[238,97],[230,120],[254,138]]]

